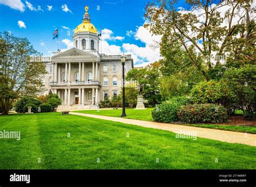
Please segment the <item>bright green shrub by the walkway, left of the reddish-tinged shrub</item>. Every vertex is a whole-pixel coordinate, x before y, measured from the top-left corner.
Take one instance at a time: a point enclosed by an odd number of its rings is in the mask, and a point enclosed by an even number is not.
[[[166,100],[164,103],[157,105],[151,112],[154,121],[170,123],[177,121],[177,112],[181,105],[189,102],[189,99],[184,96],[173,97]]]

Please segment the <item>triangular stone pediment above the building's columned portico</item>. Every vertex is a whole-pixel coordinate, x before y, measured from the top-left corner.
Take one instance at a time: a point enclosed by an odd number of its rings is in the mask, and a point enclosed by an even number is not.
[[[52,59],[59,59],[59,58],[66,58],[66,57],[86,57],[86,58],[97,58],[98,56],[91,54],[89,52],[84,52],[80,49],[77,49],[75,47],[68,49],[64,52],[60,52],[58,54],[55,54],[52,56]]]

